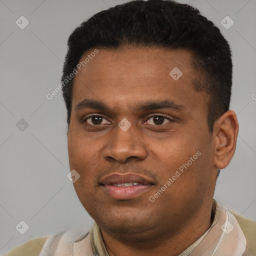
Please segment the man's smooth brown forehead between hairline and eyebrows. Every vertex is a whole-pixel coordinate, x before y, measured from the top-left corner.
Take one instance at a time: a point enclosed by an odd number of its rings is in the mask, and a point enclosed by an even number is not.
[[[80,62],[92,51],[86,51]],[[98,48],[74,77],[72,108],[83,98],[119,107],[166,98],[180,105],[189,103],[199,96],[191,83],[196,75],[191,61],[192,54],[183,49]]]

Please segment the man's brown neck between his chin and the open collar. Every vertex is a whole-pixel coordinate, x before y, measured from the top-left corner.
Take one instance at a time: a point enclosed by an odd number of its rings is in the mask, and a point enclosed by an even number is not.
[[[180,229],[169,233],[151,230],[150,238],[144,234],[110,234],[101,229],[109,256],[176,256],[195,242],[210,227],[212,203],[202,206],[201,210]],[[169,227],[171,229],[171,226]],[[153,234],[153,235],[152,235]],[[144,237],[144,239],[143,239]],[[145,238],[146,237],[146,238]]]

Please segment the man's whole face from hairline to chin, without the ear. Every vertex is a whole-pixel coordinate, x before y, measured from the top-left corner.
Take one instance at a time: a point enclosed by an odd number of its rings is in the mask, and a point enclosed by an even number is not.
[[[208,97],[191,83],[192,55],[98,50],[73,82],[68,153],[80,174],[75,191],[106,232],[173,232],[206,211],[216,178]]]

